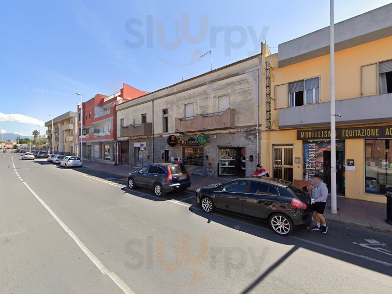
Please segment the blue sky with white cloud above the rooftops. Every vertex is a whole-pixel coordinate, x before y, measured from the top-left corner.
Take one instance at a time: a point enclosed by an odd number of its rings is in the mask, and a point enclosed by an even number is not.
[[[390,2],[335,0],[335,22]],[[210,49],[215,69],[253,55],[259,39],[275,53],[329,25],[329,1],[24,0],[4,1],[0,16],[0,130],[28,134],[75,111],[75,92],[86,101],[123,82],[152,92],[209,71],[198,56]]]

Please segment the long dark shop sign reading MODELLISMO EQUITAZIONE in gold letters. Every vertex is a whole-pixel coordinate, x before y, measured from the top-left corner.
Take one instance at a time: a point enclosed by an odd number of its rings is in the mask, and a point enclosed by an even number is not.
[[[336,129],[336,139],[377,139],[392,138],[392,125],[350,127]],[[297,140],[328,140],[331,139],[329,129],[298,130]]]

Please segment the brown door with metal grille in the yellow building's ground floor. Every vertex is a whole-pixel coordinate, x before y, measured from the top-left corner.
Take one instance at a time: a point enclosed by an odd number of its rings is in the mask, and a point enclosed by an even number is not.
[[[273,177],[293,181],[293,146],[273,147]]]

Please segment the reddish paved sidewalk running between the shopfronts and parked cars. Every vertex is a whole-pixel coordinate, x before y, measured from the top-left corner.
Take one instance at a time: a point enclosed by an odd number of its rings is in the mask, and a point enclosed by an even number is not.
[[[108,172],[123,177],[127,177],[130,172],[137,170],[137,168],[128,165],[115,166],[85,159],[83,160],[83,166],[97,172]],[[233,178],[191,175],[192,186],[188,190],[195,192],[197,188],[215,183],[223,183],[231,179]],[[338,197],[337,204],[338,214],[333,215],[331,214],[331,199],[328,197],[327,208],[325,210],[325,218],[328,221],[363,227],[373,231],[392,233],[392,225],[385,222],[387,217],[386,204],[345,197]]]

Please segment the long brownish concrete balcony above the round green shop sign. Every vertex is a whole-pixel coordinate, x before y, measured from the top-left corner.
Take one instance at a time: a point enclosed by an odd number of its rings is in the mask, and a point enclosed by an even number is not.
[[[196,114],[193,118],[175,118],[174,123],[176,133],[233,129],[236,127],[236,111],[228,108],[223,112]]]

